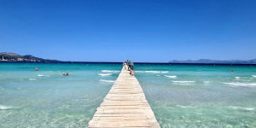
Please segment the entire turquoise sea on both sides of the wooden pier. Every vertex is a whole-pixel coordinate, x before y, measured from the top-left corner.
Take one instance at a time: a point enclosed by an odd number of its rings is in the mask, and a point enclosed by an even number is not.
[[[0,63],[0,127],[87,127],[121,68]],[[256,127],[255,66],[136,64],[135,70],[163,128]]]

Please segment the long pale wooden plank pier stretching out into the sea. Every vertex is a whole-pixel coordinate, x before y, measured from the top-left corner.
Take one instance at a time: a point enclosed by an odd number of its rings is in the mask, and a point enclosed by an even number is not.
[[[160,128],[137,79],[123,67],[100,107],[96,109],[89,128],[154,127]]]

